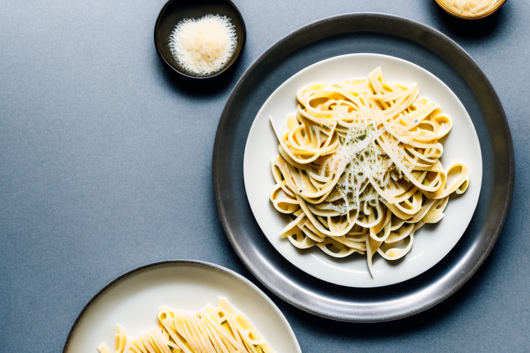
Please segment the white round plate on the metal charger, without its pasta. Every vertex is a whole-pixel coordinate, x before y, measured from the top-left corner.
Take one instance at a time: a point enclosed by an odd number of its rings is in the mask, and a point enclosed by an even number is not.
[[[334,82],[366,78],[381,66],[386,81],[418,83],[420,97],[429,97],[440,105],[442,112],[453,119],[449,136],[442,141],[444,154],[440,159],[447,170],[453,163],[469,167],[469,188],[457,198],[451,196],[444,218],[435,225],[424,225],[416,232],[411,252],[398,261],[374,256],[372,279],[366,256],[352,254],[335,259],[317,247],[298,250],[278,234],[289,219],[277,212],[269,201],[275,182],[271,159],[278,154],[278,141],[269,122],[272,117],[279,130],[287,128],[286,116],[297,107],[296,92],[315,82]],[[420,66],[381,54],[348,54],[315,63],[297,72],[271,94],[257,113],[248,134],[244,154],[244,182],[254,216],[273,246],[288,261],[304,272],[331,283],[349,287],[380,287],[411,279],[438,263],[458,242],[467,228],[480,194],[482,155],[471,118],[458,97],[440,79]]]

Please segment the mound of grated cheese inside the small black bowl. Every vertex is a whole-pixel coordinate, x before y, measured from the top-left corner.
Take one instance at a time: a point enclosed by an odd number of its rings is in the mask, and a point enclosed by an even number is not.
[[[220,70],[232,57],[236,44],[233,23],[219,14],[184,19],[169,37],[169,48],[179,65],[201,75]]]

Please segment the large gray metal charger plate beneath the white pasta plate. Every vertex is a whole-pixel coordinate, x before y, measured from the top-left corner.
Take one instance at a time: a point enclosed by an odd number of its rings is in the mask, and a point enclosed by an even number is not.
[[[248,131],[271,93],[308,65],[355,52],[405,59],[455,92],[475,125],[482,150],[482,189],[475,214],[455,248],[430,270],[384,288],[346,288],[316,279],[273,248],[246,198],[243,156]],[[222,113],[213,150],[217,211],[246,267],[274,294],[329,319],[400,319],[440,303],[487,258],[513,193],[513,146],[502,105],[478,65],[457,43],[421,23],[389,14],[342,14],[304,26],[266,50],[244,73]]]

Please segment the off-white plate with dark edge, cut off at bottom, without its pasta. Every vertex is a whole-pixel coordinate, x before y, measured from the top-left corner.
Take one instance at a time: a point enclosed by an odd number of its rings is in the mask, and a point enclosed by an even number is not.
[[[137,337],[158,327],[161,306],[196,312],[224,296],[278,353],[299,352],[291,326],[277,306],[243,276],[202,261],[165,261],[137,268],[107,285],[75,321],[63,352],[114,351],[116,325]]]

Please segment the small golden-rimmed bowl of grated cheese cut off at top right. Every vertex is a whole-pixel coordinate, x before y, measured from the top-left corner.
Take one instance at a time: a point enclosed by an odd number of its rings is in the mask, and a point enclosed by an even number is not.
[[[495,12],[506,0],[435,0],[447,13],[459,19],[482,19]]]

